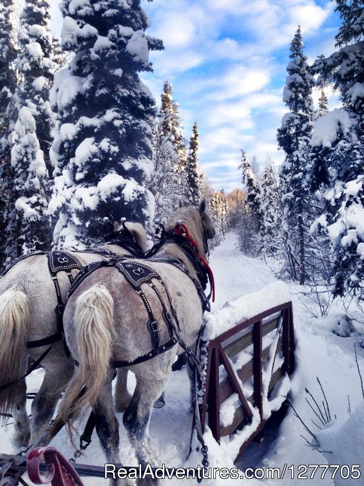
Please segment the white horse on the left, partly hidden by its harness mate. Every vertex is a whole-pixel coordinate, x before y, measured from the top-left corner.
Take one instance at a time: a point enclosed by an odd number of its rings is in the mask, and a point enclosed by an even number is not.
[[[125,223],[128,231],[139,244],[143,252],[147,248],[147,239],[140,223]],[[131,255],[123,247],[125,229],[114,224],[115,243],[106,244],[105,248],[115,255]],[[76,257],[82,265],[104,260],[106,257],[97,253],[79,253],[66,250]],[[79,270],[72,270],[75,277]],[[70,280],[64,271],[57,274],[62,301],[66,302]],[[47,255],[32,255],[16,263],[0,280],[0,387],[16,382],[25,374],[28,355],[38,359],[49,345],[27,348],[26,343],[43,339],[57,333],[55,307],[58,304],[55,285],[51,278]],[[69,382],[74,368],[73,359],[66,355],[64,343],[58,340],[44,357],[41,366],[45,375],[39,391],[31,406],[31,421],[26,412],[25,379],[0,391],[0,413],[11,413],[14,417],[14,444],[26,447],[33,443],[48,426],[54,414],[61,391]],[[125,395],[126,371],[118,374],[116,407],[125,410],[129,399]],[[120,399],[118,398],[120,396]],[[4,415],[3,415],[4,416]]]

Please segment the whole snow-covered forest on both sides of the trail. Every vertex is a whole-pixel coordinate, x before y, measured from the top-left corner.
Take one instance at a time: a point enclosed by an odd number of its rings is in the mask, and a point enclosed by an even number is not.
[[[34,250],[95,244],[121,217],[166,221],[207,200],[218,244],[237,228],[242,251],[281,278],[362,305],[364,259],[362,7],[337,1],[331,56],[308,65],[300,27],[290,46],[288,112],[263,171],[242,150],[242,186],[214,190],[199,164],[198,121],[186,140],[172,85],[156,100],[139,74],[162,50],[140,2],[64,1],[61,40],[47,1],[0,6],[1,263]],[[319,53],[317,53],[319,54]],[[312,90],[321,88],[319,106]],[[342,107],[330,111],[327,87]],[[243,148],[243,147],[242,147]]]

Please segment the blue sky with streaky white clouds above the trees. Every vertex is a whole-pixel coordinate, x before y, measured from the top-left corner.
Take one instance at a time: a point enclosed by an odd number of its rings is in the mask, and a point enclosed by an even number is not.
[[[51,3],[58,33],[62,17],[57,1]],[[340,25],[335,2],[144,0],[142,6],[151,21],[147,33],[165,47],[151,53],[154,72],[142,78],[157,103],[164,80],[172,83],[187,139],[197,121],[200,163],[213,187],[241,187],[240,149],[255,154],[262,168],[266,154],[281,164],[276,132],[287,111],[282,93],[289,45],[300,24],[310,62],[332,53]],[[337,95],[327,94],[329,107],[338,106]]]

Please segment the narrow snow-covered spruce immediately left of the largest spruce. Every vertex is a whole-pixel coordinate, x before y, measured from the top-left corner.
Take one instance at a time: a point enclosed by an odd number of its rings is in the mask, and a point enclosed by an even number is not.
[[[14,64],[20,84],[8,105],[11,171],[8,174],[9,219],[5,231],[7,258],[47,249],[49,157],[53,114],[49,102],[52,79],[52,36],[48,2],[26,0],[20,13],[19,52]],[[44,199],[45,198],[45,199]]]

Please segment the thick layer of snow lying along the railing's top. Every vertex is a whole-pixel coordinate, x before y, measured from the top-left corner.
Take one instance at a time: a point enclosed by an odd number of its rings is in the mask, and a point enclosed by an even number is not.
[[[232,302],[226,302],[222,309],[206,316],[204,339],[212,340],[243,320],[250,319],[256,314],[285,304],[290,300],[291,296],[286,284],[277,281],[258,292],[243,295]]]

